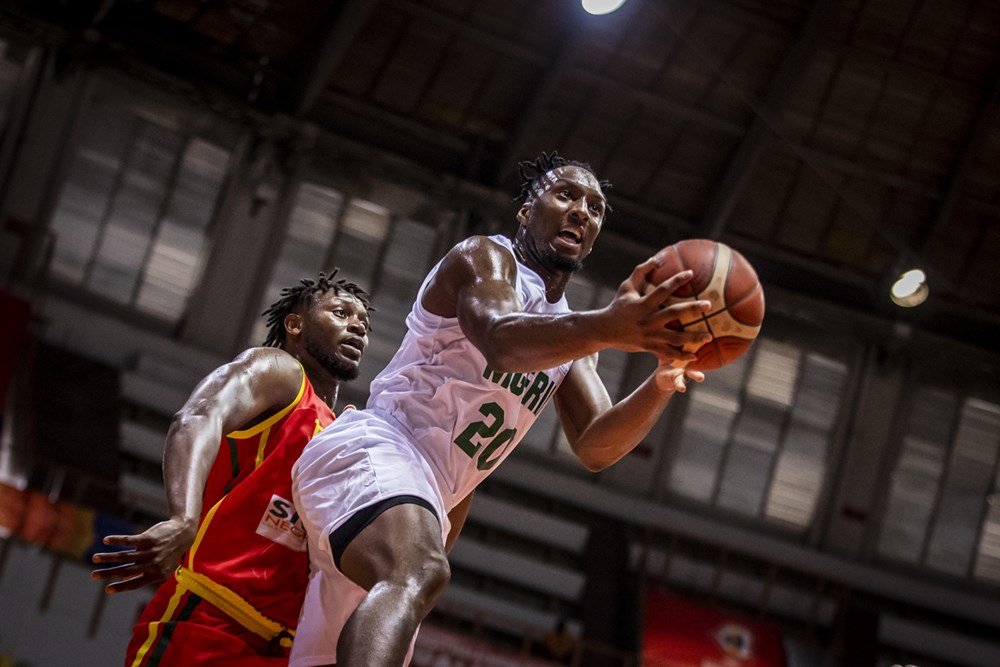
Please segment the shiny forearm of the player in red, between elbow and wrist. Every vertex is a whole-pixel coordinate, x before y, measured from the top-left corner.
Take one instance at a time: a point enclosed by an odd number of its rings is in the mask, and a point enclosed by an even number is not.
[[[174,418],[163,452],[163,482],[170,516],[197,524],[205,483],[222,439],[222,423],[205,415]]]

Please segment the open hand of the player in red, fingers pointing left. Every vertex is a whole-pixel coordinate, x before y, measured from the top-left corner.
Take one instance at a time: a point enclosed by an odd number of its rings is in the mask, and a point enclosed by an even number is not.
[[[90,576],[93,579],[117,580],[104,587],[105,593],[121,593],[159,584],[177,567],[181,556],[194,543],[196,532],[191,523],[171,518],[138,535],[108,535],[104,544],[132,549],[94,554],[92,560],[97,565],[121,564],[99,568]]]

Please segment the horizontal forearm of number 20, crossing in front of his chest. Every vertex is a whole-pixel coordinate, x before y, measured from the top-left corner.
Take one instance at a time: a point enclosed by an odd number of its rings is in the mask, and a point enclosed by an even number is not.
[[[545,370],[612,347],[607,323],[608,314],[601,310],[511,313],[496,319],[479,348],[493,370]]]

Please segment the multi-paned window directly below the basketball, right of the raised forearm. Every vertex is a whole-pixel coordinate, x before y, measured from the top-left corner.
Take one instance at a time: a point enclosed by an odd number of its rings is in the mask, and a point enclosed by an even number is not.
[[[667,475],[681,496],[793,529],[812,521],[826,477],[848,365],[761,338],[686,397]]]

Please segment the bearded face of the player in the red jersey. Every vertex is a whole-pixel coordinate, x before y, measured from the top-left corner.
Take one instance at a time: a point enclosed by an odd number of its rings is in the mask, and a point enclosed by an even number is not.
[[[303,325],[306,352],[340,380],[358,377],[368,347],[368,311],[360,301],[334,290],[318,294]]]

